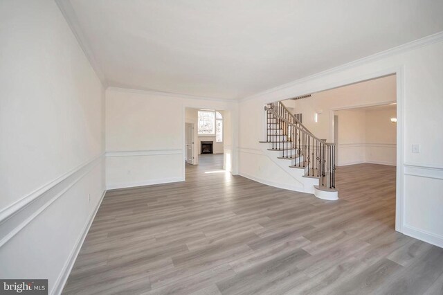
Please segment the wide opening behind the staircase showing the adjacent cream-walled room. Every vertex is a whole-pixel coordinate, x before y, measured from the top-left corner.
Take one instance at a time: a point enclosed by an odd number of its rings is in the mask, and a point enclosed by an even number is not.
[[[340,199],[374,207],[372,217],[394,228],[397,76],[347,84],[283,103],[310,132],[335,143]]]

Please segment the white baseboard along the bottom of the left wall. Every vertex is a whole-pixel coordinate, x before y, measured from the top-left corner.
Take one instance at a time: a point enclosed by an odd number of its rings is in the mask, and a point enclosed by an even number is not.
[[[78,238],[77,242],[75,243],[75,247],[73,251],[71,252],[71,255],[69,255],[68,260],[64,264],[64,267],[60,273],[60,276],[55,281],[53,292],[51,294],[62,294],[64,285],[66,284],[66,280],[69,278],[69,274],[71,274],[71,270],[74,266],[75,260],[77,259],[78,253],[80,252],[80,249],[82,249],[82,245],[84,242],[84,239],[86,238],[89,229],[91,228],[92,222],[94,218],[96,217],[96,214],[98,212],[98,208],[100,208],[100,205],[102,204],[103,197],[105,197],[107,190],[104,190],[102,193],[102,196],[100,197],[100,201],[98,202],[96,208],[94,209],[91,217],[89,218],[89,222],[84,226],[84,229],[82,233],[80,234],[80,237]]]

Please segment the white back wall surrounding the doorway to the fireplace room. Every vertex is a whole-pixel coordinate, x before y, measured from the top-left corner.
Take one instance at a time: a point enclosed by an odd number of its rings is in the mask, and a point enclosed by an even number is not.
[[[106,91],[107,188],[161,184],[185,179],[186,107],[223,109],[237,123],[237,103],[150,91]],[[188,115],[189,116],[189,115]],[[233,138],[236,132],[232,134]],[[237,139],[233,139],[235,142]],[[226,147],[228,148],[228,147]],[[236,155],[229,147],[226,151]],[[236,168],[233,170],[235,173]]]

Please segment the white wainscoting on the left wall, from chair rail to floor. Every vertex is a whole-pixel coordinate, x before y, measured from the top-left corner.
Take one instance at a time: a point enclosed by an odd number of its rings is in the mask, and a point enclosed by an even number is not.
[[[60,293],[106,192],[104,159],[91,159],[2,211],[1,278],[47,278],[49,294]]]

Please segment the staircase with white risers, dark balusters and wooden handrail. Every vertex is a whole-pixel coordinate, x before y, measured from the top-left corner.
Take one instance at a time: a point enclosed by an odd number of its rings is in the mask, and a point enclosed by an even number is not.
[[[285,107],[272,102],[266,111],[262,151],[294,179],[294,190],[320,199],[338,199],[335,187],[335,145],[317,138]]]

